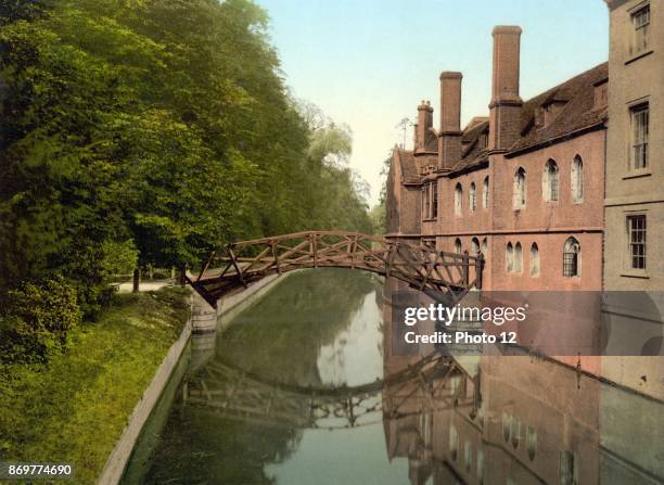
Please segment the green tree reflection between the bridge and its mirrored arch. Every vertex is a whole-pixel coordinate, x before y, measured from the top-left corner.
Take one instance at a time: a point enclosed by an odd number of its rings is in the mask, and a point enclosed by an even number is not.
[[[318,385],[317,359],[378,284],[369,275],[325,268],[291,276],[241,314],[219,340],[217,358],[266,379]]]

